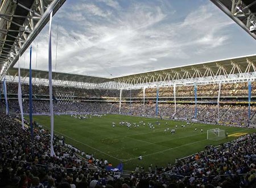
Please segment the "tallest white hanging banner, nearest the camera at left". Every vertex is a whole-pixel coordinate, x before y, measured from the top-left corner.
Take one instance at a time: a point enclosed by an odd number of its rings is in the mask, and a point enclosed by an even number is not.
[[[49,101],[50,101],[50,115],[51,115],[51,156],[56,156],[53,150],[53,105],[52,105],[52,11],[49,19],[49,51],[48,51],[48,61],[49,61]]]

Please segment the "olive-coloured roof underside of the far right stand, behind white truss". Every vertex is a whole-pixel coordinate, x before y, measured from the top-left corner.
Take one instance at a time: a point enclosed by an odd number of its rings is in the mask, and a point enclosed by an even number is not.
[[[248,68],[248,65],[253,64]],[[113,78],[115,81],[129,81],[137,78],[141,82],[159,82],[165,80],[181,80],[185,78],[205,78],[223,76],[228,78],[236,74],[245,74],[255,72],[253,68],[256,64],[256,55],[234,57],[232,59],[224,59],[199,64],[191,64],[178,66],[170,69],[155,70],[152,72],[144,72],[129,76]],[[169,78],[167,78],[169,77]],[[224,79],[225,80],[225,79]]]

